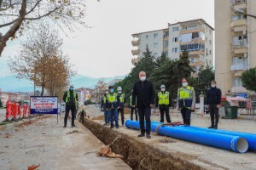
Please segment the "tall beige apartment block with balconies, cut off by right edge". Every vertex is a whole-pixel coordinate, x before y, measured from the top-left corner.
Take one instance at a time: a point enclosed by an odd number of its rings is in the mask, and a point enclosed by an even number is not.
[[[223,95],[253,94],[241,73],[256,66],[255,7],[255,0],[215,1],[215,77]]]

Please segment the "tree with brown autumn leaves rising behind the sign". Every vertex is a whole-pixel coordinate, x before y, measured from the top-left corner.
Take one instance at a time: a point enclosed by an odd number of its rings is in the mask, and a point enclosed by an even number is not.
[[[62,40],[57,31],[50,30],[49,26],[40,26],[38,32],[31,32],[26,42],[21,42],[20,55],[9,60],[9,67],[18,78],[26,78],[44,89],[49,88],[53,94],[54,88],[67,86],[69,77],[72,77],[72,65],[69,65],[67,56],[61,52]]]

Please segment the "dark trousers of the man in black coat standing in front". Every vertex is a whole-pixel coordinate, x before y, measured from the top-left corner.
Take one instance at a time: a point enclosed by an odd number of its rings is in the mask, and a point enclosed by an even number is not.
[[[151,130],[151,121],[150,121],[151,107],[138,108],[138,114],[139,114],[139,118],[140,118],[141,133],[145,134],[144,119],[146,119],[146,133],[150,134],[150,130]]]

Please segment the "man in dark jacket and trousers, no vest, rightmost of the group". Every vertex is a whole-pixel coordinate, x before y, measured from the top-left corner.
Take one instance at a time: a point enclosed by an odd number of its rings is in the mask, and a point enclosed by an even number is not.
[[[211,87],[207,91],[207,108],[210,111],[212,125],[208,128],[218,128],[218,108],[221,107],[221,90],[216,88],[216,82],[212,80]],[[214,122],[215,118],[215,122]]]

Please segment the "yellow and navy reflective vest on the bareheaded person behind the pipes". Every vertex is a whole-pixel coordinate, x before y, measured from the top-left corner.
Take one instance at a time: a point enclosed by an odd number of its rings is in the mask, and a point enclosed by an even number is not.
[[[190,86],[187,86],[187,88],[178,88],[177,95],[178,95],[178,105],[180,108],[183,106],[186,108],[190,108],[192,105],[192,99],[193,99],[193,88]]]

